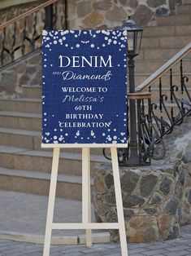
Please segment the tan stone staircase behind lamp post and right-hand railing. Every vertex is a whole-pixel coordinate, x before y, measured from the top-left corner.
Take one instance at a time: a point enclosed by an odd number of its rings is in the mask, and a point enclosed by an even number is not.
[[[141,82],[150,77],[158,68],[167,62],[173,55],[191,42],[191,5],[176,7],[176,15],[158,16],[157,26],[145,27],[141,42],[140,55],[135,58],[135,84],[139,86]],[[184,75],[189,77],[188,90],[191,94],[191,54],[183,59]],[[173,85],[180,86],[180,63],[172,68]],[[175,108],[177,105],[170,102],[170,74],[165,73],[162,77],[163,94],[168,96],[167,108]],[[158,103],[159,90],[158,82],[151,88],[152,102]],[[181,92],[176,92],[180,98]],[[160,116],[159,109],[155,113]]]

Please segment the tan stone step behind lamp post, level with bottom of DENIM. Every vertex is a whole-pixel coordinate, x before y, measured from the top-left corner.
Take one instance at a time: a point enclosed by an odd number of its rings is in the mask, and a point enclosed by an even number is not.
[[[158,68],[165,64],[167,60],[137,60],[135,63],[135,73],[154,73]],[[183,60],[184,73],[191,73],[191,60]],[[173,67],[174,73],[180,72],[180,64]]]

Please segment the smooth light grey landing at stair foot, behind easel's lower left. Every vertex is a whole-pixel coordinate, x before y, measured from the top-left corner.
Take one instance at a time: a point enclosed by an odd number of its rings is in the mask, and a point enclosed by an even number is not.
[[[11,232],[44,236],[48,196],[38,196],[21,192],[0,191],[0,234]],[[56,197],[54,222],[77,223],[82,219],[80,201]],[[94,221],[93,207],[92,219]],[[77,236],[83,231],[56,231],[53,236]],[[1,238],[1,236],[0,236]],[[1,256],[1,255],[0,255]]]

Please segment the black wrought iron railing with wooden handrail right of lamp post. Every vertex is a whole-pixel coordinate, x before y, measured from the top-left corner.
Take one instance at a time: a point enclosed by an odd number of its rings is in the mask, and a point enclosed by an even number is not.
[[[141,164],[150,163],[150,157],[162,159],[166,153],[163,136],[171,134],[184,117],[191,115],[187,76],[191,73],[190,52],[191,42],[137,86],[137,92],[149,90],[152,95],[148,104],[137,100]]]

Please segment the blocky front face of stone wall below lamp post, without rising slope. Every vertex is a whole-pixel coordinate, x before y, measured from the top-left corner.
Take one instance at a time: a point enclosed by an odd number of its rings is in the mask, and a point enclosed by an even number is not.
[[[161,241],[180,235],[180,179],[174,170],[120,168],[124,218],[128,241]],[[111,166],[96,170],[94,206],[102,222],[117,220]],[[112,233],[115,240],[118,236]]]

